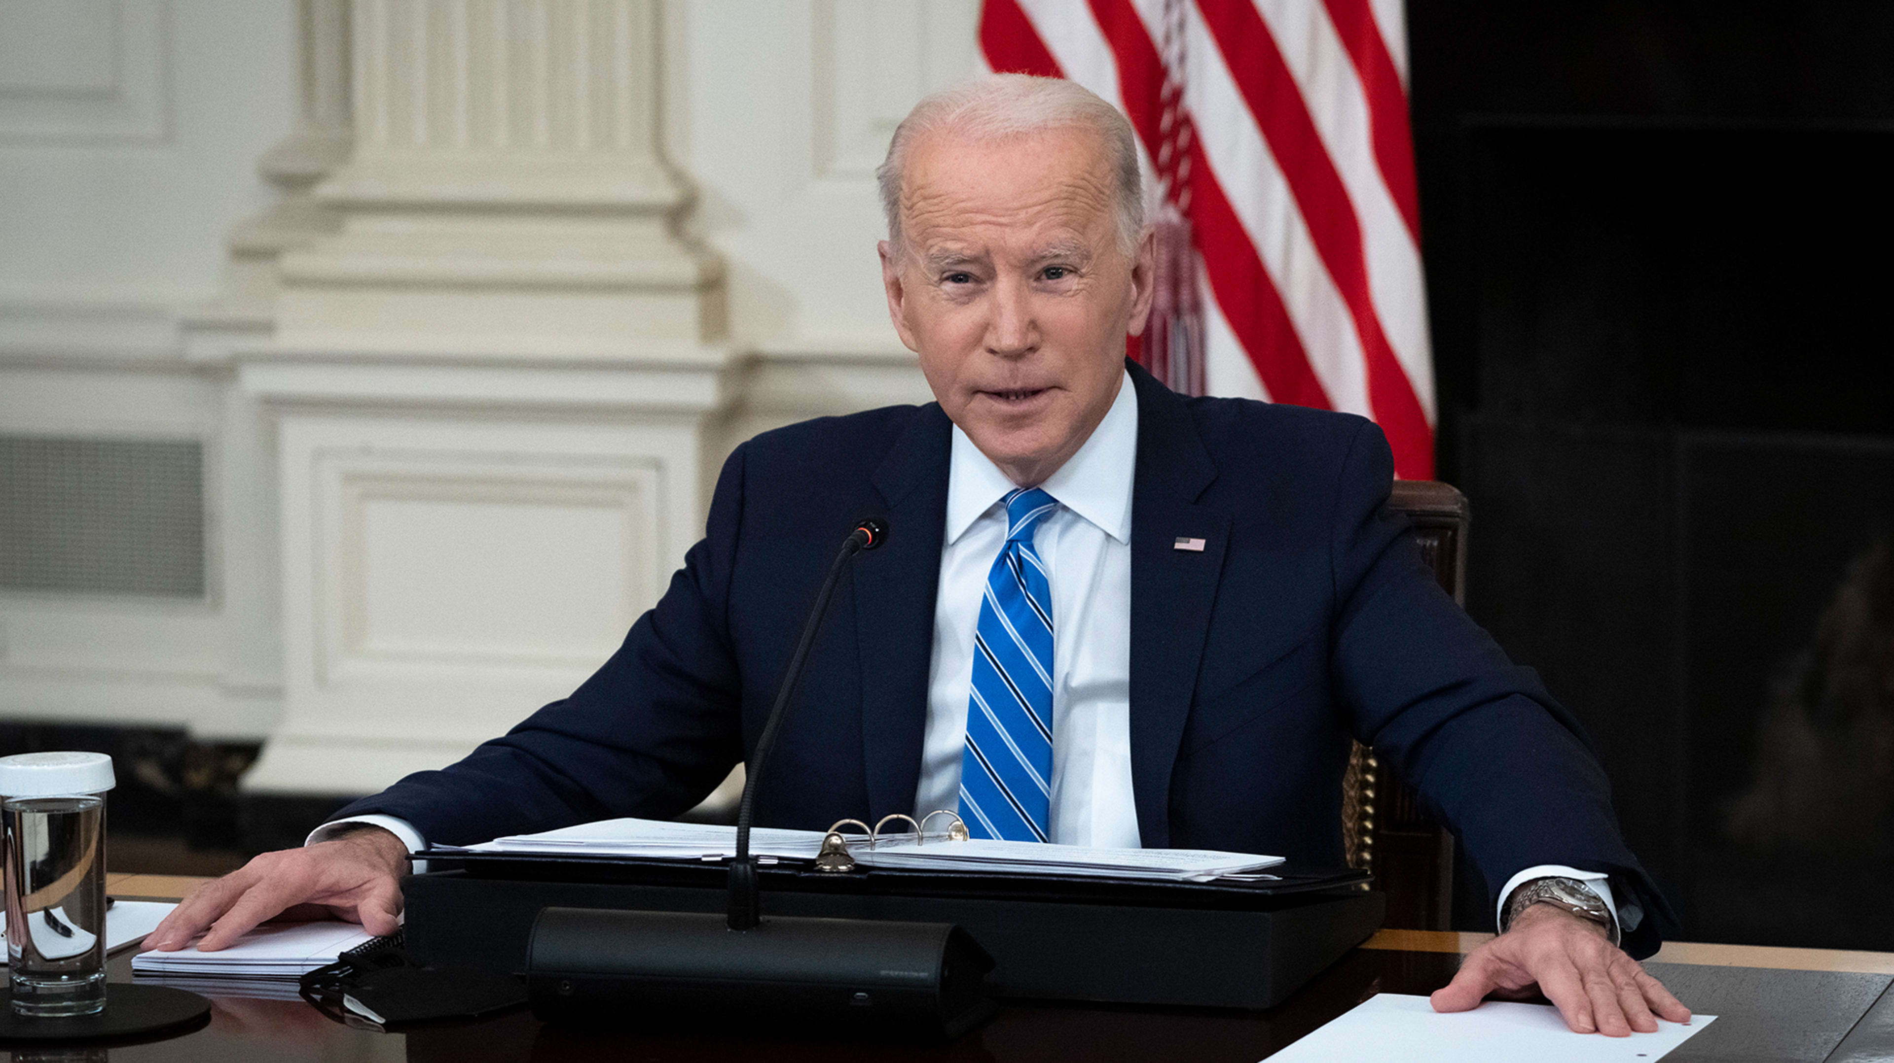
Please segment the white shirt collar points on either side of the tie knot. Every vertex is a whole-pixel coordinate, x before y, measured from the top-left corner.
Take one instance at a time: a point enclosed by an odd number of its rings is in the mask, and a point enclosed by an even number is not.
[[[1042,488],[1061,505],[1117,539],[1131,541],[1131,475],[1138,458],[1138,395],[1125,373],[1117,399],[1091,437]],[[947,543],[953,545],[1013,490],[960,426],[953,427],[953,458],[947,473]]]

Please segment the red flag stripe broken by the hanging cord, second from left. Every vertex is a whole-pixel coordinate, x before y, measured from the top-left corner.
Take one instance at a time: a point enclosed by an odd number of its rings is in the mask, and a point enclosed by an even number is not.
[[[1125,100],[1131,125],[1144,140],[1144,149],[1155,159],[1161,144],[1157,91],[1165,76],[1157,45],[1131,0],[1091,0],[1091,11],[1117,59],[1117,91],[1119,98]],[[1263,380],[1273,401],[1333,409],[1309,365],[1295,325],[1290,323],[1282,295],[1269,278],[1269,270],[1263,269],[1256,246],[1244,235],[1242,223],[1237,221],[1229,199],[1224,197],[1203,146],[1191,142],[1189,155],[1189,221],[1197,250],[1203,253],[1205,272],[1210,276],[1210,293],[1216,295],[1224,320],[1229,322],[1237,342],[1250,356],[1250,363],[1256,365],[1256,375]]]

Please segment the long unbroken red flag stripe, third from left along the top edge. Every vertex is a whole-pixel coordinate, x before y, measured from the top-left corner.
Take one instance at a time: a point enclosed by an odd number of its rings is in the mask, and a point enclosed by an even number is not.
[[[1199,0],[1197,8],[1290,183],[1316,253],[1354,318],[1367,361],[1367,405],[1394,448],[1394,471],[1403,479],[1426,479],[1434,467],[1434,431],[1375,316],[1354,204],[1314,131],[1277,38],[1250,0]],[[1218,305],[1227,306],[1222,299]]]

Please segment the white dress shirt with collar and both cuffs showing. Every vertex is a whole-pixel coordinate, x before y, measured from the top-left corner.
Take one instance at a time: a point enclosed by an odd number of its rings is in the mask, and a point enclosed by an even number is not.
[[[1140,847],[1131,789],[1131,479],[1138,456],[1138,401],[1131,375],[1112,409],[1057,473],[1038,484],[1059,501],[1040,520],[1032,545],[1051,573],[1053,594],[1053,793],[1051,840],[1063,845]],[[1017,484],[974,441],[953,429],[947,473],[947,533],[934,605],[934,656],[928,666],[928,721],[920,745],[915,815],[960,808],[966,706],[974,688],[974,628],[987,571],[1006,543],[1000,499]],[[392,830],[409,851],[426,840],[403,819],[358,815],[326,823],[309,842],[343,823]],[[1546,876],[1581,880],[1614,919],[1612,887],[1599,872],[1540,864],[1511,876],[1498,912],[1519,885]],[[1623,912],[1636,927],[1642,912]]]

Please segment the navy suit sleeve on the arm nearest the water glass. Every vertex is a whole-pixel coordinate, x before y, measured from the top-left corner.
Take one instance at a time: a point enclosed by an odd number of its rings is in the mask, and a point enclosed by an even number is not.
[[[659,603],[572,696],[439,772],[407,775],[335,813],[396,815],[466,845],[595,819],[670,819],[742,760],[729,637],[746,446],[724,463],[705,539]]]

